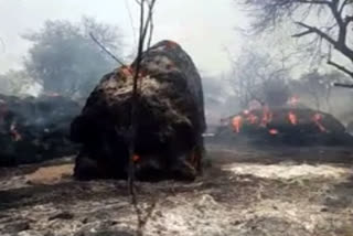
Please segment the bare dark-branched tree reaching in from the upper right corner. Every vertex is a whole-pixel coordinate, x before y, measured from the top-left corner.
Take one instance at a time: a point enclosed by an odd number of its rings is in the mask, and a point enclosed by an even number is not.
[[[353,0],[242,0],[252,11],[253,30],[264,32],[292,22],[300,30],[295,37],[311,36],[307,46],[314,49],[329,65],[353,78],[353,71],[335,58],[341,54],[353,65]],[[324,43],[324,44],[322,44]],[[324,47],[322,47],[324,45]],[[307,47],[306,46],[306,47]],[[322,53],[321,50],[325,50]],[[351,66],[352,67],[352,66]]]

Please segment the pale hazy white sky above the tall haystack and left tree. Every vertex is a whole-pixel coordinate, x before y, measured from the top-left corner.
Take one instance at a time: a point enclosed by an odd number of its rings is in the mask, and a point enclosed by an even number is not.
[[[227,47],[232,53],[242,46],[235,28],[245,18],[235,0],[158,0],[153,41],[179,42],[193,57],[196,66],[210,74],[229,69]],[[82,15],[118,25],[125,35],[127,53],[133,45],[129,11],[135,26],[138,9],[135,0],[0,0],[0,73],[17,68],[29,44],[21,34],[38,30],[47,19],[79,21]]]

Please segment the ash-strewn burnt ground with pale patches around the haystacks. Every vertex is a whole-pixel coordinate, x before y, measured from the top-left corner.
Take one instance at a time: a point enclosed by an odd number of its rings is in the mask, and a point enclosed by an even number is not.
[[[77,182],[72,159],[0,170],[0,235],[352,236],[353,149],[208,147],[193,183]]]

